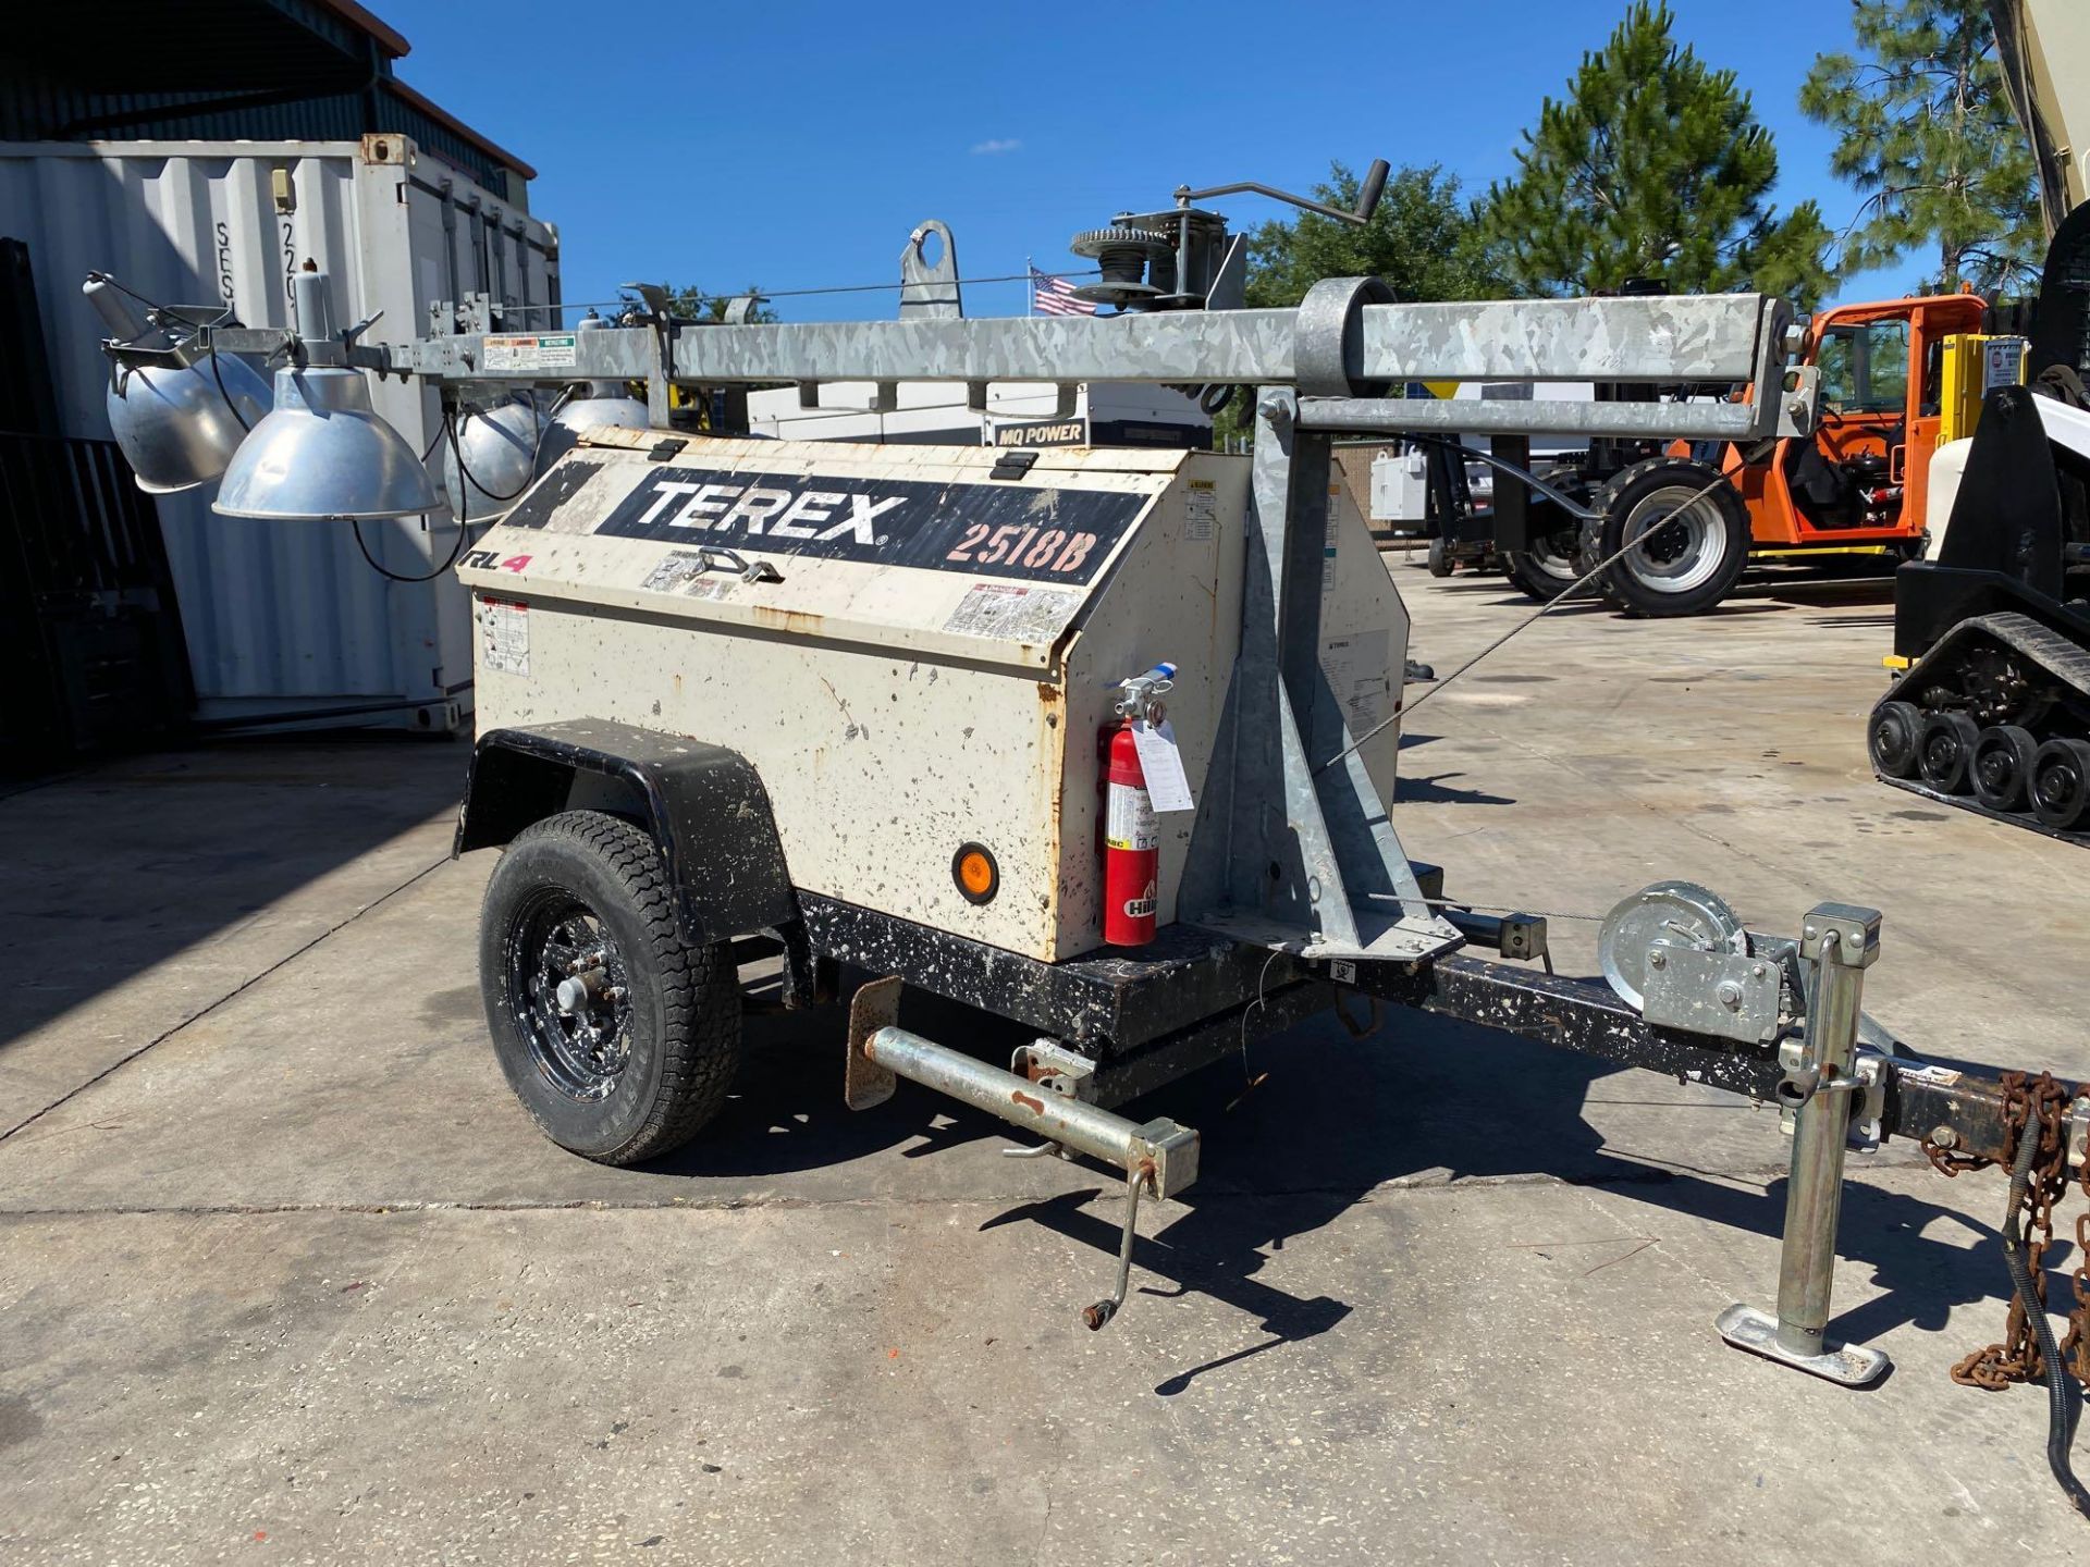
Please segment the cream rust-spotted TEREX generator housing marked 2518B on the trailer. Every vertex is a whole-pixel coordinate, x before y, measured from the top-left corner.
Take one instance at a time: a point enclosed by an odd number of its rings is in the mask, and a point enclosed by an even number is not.
[[[1248,460],[602,430],[468,556],[481,731],[606,719],[761,773],[798,888],[1041,961],[1104,942],[1099,735],[1175,664],[1204,794],[1239,652]],[[1030,453],[1026,453],[1030,455]],[[1321,669],[1392,804],[1409,621],[1331,487]],[[759,564],[757,564],[759,562]],[[1158,815],[1158,921],[1193,811]],[[989,896],[953,878],[968,844]]]

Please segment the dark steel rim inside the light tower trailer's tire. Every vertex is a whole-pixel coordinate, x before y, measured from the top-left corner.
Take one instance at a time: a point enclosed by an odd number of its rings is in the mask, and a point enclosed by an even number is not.
[[[577,1103],[617,1093],[631,1063],[631,978],[625,957],[587,903],[564,888],[537,890],[516,911],[506,942],[508,997],[537,1072]],[[560,997],[573,982],[579,1005]]]

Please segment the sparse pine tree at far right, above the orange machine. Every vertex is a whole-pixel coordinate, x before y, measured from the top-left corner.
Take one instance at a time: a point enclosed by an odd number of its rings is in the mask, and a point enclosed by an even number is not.
[[[1931,288],[2008,288],[2044,251],[2038,169],[1996,67],[1983,0],[1852,0],[1860,56],[1825,54],[1799,90],[1841,132],[1829,161],[1864,201],[1843,265],[1935,247]]]

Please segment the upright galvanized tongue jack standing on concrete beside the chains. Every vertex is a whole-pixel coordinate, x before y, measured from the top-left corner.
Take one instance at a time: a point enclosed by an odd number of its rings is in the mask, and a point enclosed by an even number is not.
[[[1829,1343],[1829,1289],[1835,1281],[1835,1226],[1843,1203],[1843,1151],[1858,1049],[1858,1001],[1864,972],[1879,959],[1879,913],[1822,903],[1806,919],[1799,955],[1820,972],[1808,1009],[1806,1051],[1795,1076],[1814,1080],[1793,1124],[1785,1185],[1785,1237],[1779,1245],[1779,1312],[1741,1302],[1720,1312],[1720,1337],[1845,1387],[1864,1387],[1887,1371],[1887,1356],[1858,1343]]]

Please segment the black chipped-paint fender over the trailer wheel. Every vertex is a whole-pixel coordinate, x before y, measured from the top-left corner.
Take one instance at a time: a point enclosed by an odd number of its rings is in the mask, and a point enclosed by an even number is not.
[[[573,719],[483,733],[451,855],[506,844],[533,821],[585,809],[652,834],[692,944],[798,926],[769,792],[752,763],[627,723]]]

